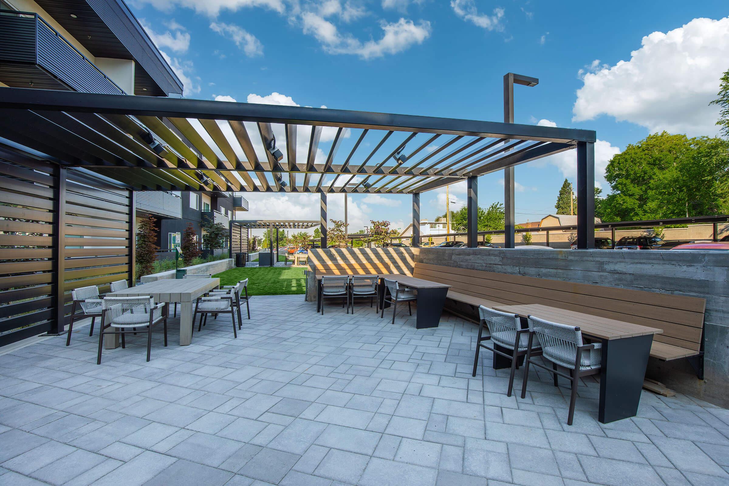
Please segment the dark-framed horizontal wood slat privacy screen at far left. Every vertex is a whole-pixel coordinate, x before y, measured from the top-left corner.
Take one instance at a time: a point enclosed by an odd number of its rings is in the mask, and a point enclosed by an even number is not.
[[[130,280],[131,197],[94,176],[4,152],[0,345],[62,331],[72,289],[98,285],[103,294],[112,281]]]

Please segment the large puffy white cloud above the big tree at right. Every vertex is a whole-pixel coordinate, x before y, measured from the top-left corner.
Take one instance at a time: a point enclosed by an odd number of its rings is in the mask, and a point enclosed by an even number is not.
[[[650,132],[714,135],[719,107],[708,105],[716,98],[728,52],[729,17],[696,18],[666,34],[653,32],[630,60],[612,67],[595,61],[595,72],[583,71],[572,119],[607,114]]]

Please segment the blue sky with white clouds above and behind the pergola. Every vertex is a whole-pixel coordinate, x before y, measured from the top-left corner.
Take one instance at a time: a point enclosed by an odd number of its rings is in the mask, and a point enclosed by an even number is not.
[[[596,130],[605,191],[609,157],[648,133],[716,134],[707,103],[729,68],[725,0],[129,3],[190,98],[501,120],[503,75],[538,77],[515,87],[515,122]],[[538,220],[574,179],[574,152],[515,172],[517,218]],[[503,201],[502,184],[482,176],[480,205]],[[463,185],[452,189],[462,201]],[[318,219],[316,195],[246,198],[252,218]],[[330,197],[330,217],[342,218],[341,199]],[[353,195],[349,206],[350,230],[410,222],[406,195]],[[443,191],[422,195],[424,217],[444,212]]]

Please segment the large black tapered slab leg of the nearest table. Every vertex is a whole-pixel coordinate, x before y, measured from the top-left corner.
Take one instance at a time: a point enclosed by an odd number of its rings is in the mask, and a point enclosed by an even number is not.
[[[643,388],[653,334],[602,341],[598,420],[634,417]]]

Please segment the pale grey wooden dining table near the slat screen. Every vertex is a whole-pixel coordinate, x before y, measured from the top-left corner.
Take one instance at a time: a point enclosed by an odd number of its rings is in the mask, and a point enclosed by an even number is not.
[[[155,282],[130,287],[128,289],[109,292],[106,297],[139,297],[149,295],[155,302],[167,302],[165,314],[169,313],[169,304],[180,303],[180,345],[187,346],[192,341],[192,304],[198,297],[207,294],[220,286],[219,278],[167,278]],[[106,349],[119,345],[119,335],[109,334],[104,338]]]

